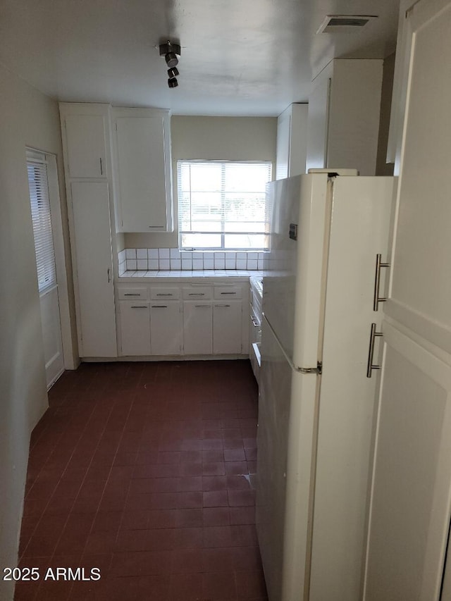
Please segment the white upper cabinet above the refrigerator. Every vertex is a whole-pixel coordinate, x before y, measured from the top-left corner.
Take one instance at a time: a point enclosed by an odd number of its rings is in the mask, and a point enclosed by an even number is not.
[[[352,168],[375,175],[383,61],[338,58],[313,81],[307,170]]]

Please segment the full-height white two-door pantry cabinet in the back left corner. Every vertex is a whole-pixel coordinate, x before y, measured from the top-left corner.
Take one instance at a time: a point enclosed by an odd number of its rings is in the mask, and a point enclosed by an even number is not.
[[[117,357],[109,105],[60,104],[80,357]]]

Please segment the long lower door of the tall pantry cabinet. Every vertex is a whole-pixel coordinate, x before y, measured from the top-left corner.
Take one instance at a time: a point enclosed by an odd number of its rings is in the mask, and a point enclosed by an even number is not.
[[[80,357],[117,357],[109,192],[106,182],[72,182]]]

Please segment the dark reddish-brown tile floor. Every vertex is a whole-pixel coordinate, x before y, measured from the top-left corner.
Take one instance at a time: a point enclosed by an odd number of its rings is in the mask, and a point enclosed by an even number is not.
[[[20,535],[39,580],[16,601],[266,600],[247,361],[82,364],[49,402]]]

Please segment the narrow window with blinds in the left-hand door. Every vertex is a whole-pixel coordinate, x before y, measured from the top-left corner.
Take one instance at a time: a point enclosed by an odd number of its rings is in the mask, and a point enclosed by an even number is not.
[[[42,152],[27,150],[28,186],[39,292],[56,284],[54,241],[51,230],[47,162]]]

